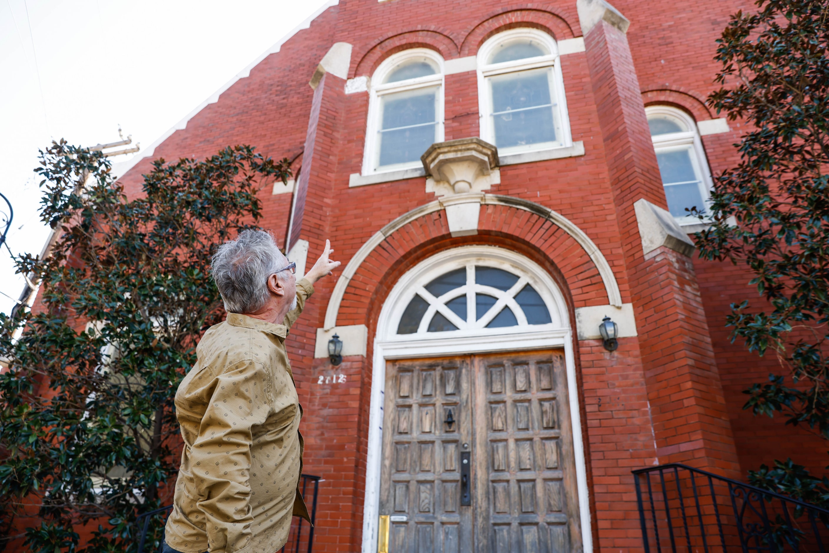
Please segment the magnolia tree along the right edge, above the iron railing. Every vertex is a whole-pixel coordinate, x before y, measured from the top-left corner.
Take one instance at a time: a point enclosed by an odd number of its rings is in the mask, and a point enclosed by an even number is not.
[[[779,369],[745,393],[755,415],[782,415],[829,439],[829,3],[759,0],[718,41],[709,104],[749,124],[736,167],[715,180],[702,258],[748,267],[764,301],[731,305],[732,339]],[[750,478],[829,503],[826,481],[792,461]]]

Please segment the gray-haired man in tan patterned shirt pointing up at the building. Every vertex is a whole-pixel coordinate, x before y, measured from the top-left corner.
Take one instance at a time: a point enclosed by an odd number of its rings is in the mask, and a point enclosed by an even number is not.
[[[263,230],[219,246],[213,279],[227,319],[205,332],[176,393],[184,449],[164,553],[273,553],[291,517],[308,518],[299,493],[302,406],[285,338],[339,261],[328,240],[298,282],[296,265]]]

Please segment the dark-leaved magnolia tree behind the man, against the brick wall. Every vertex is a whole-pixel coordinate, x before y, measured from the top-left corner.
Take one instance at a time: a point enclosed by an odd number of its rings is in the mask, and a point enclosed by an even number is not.
[[[128,197],[101,153],[61,140],[36,172],[56,241],[44,260],[17,259],[41,279],[36,309],[0,313],[0,544],[134,551],[137,517],[170,502],[178,383],[225,314],[211,254],[255,226],[259,188],[289,163],[248,146],[160,159]],[[96,529],[79,549],[84,525]]]

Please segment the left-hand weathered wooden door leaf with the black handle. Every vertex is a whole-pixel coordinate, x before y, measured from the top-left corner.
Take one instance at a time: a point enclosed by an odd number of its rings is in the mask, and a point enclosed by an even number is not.
[[[392,553],[472,551],[459,467],[472,438],[469,374],[468,357],[387,363],[380,512],[393,517]]]

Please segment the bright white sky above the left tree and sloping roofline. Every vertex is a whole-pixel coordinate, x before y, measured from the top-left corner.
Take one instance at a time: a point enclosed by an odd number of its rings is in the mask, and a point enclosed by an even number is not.
[[[38,254],[48,235],[38,148],[114,142],[118,124],[148,147],[324,3],[0,0],[0,192],[14,207],[12,251]],[[2,294],[17,298],[23,285],[3,247],[0,311],[14,305]]]

